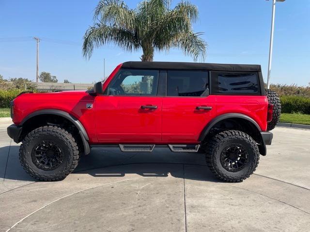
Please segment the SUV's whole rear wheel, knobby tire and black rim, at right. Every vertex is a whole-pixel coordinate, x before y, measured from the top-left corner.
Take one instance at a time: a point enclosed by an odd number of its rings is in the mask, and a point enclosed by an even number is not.
[[[256,142],[242,131],[222,131],[209,140],[206,161],[221,180],[241,182],[255,171],[259,163]]]

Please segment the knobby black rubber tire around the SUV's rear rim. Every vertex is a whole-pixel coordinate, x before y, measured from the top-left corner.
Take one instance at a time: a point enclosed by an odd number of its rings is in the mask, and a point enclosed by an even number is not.
[[[222,151],[230,144],[241,144],[248,153],[248,162],[237,172],[227,171],[220,161]],[[226,182],[241,182],[247,179],[256,170],[260,152],[256,142],[242,131],[222,131],[208,141],[206,147],[207,166],[217,178]]]

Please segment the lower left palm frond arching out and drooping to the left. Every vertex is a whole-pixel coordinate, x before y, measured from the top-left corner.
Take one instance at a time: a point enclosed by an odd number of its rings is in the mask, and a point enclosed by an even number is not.
[[[137,50],[140,47],[139,41],[131,31],[95,24],[86,31],[83,37],[83,56],[90,58],[94,48],[107,43],[115,44],[127,51]]]

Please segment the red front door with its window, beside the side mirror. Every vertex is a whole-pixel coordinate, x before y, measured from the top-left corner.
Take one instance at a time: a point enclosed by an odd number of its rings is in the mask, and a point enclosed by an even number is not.
[[[121,69],[107,94],[95,100],[95,125],[100,143],[161,141],[162,97],[157,97],[159,71]]]

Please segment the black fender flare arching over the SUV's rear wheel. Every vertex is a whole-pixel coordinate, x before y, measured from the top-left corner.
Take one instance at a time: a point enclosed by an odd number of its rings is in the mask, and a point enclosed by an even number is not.
[[[242,119],[248,120],[250,123],[252,123],[257,128],[257,130],[260,132],[259,136],[260,136],[260,140],[261,140],[261,144],[259,145],[260,153],[263,156],[265,156],[266,155],[266,145],[265,145],[265,142],[264,142],[263,137],[262,137],[262,129],[260,128],[260,126],[257,124],[257,122],[253,118],[251,118],[247,115],[243,115],[243,114],[229,113],[229,114],[223,114],[223,115],[215,117],[204,127],[204,129],[202,130],[202,132],[199,136],[199,141],[204,140],[204,138],[208,135],[209,131],[211,130],[211,128],[214,125],[216,125],[218,122],[220,122],[224,119],[228,119],[228,118],[242,118]]]

